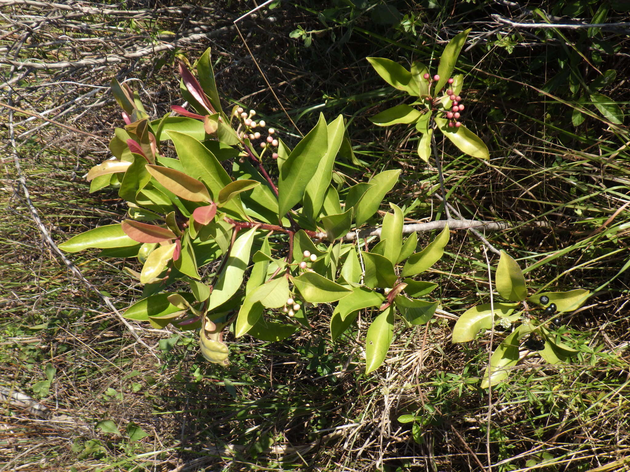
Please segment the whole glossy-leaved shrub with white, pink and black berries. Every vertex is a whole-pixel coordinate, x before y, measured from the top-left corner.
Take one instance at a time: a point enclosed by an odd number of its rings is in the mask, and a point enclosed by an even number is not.
[[[467,34],[445,47],[433,76],[419,62],[406,70],[388,59],[368,58],[387,83],[413,100],[371,121],[415,125],[421,133],[419,157],[426,162],[435,154],[438,168],[436,131],[471,157],[490,157],[483,141],[459,121],[465,108],[459,95],[463,76],[450,77]],[[127,219],[76,235],[60,249],[99,248],[101,256],[137,257],[142,270],[125,270],[144,286],[142,298],[123,316],[156,328],[172,323],[199,330],[200,350],[210,362],[228,364],[223,335],[229,327],[236,337],[280,341],[311,329],[309,317],[330,305],[333,340],[367,313],[365,371],[379,368],[396,320],[406,327],[423,325],[438,308],[439,301],[426,300],[437,284],[418,276],[444,254],[449,220],[418,250],[418,227],[404,224],[408,208],[389,203],[391,211],[383,211],[382,220],[375,216],[398,181],[398,169],[377,172],[367,182],[333,181],[338,155],[352,157],[343,116],[327,121],[320,115],[290,149],[264,120],[256,121],[255,110],[224,111],[210,50],[197,62],[197,78],[183,64],[179,70],[181,96],[190,107],[172,106],[173,113],[157,120],[149,120],[129,86],[112,82],[126,125],[116,129],[110,143],[114,157],[87,177],[91,191],[118,189],[129,206]],[[462,315],[453,335],[454,342],[463,342],[496,321],[506,328],[517,325],[491,357],[482,386],[505,379],[525,335],[529,349],[542,349],[548,362],[575,354],[530,315],[528,303],[551,300],[547,311],[553,308],[554,315],[578,308],[587,291],[528,296],[518,264],[505,252],[496,288],[517,303],[491,300],[475,306]],[[512,315],[518,302],[522,309]],[[544,345],[537,344],[537,335]]]

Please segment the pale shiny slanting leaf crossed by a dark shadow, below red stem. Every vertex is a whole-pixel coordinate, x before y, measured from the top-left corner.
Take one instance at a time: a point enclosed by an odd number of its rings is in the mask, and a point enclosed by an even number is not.
[[[207,310],[214,310],[217,306],[225,303],[243,283],[243,275],[249,264],[251,244],[255,235],[256,228],[251,228],[251,230],[239,236],[234,242],[226,265],[219,274],[212,293],[210,293]]]

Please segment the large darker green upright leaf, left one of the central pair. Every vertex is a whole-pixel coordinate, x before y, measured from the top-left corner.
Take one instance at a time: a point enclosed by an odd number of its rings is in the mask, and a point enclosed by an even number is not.
[[[304,191],[328,150],[328,128],[324,115],[319,115],[317,125],[295,146],[278,178],[278,213],[285,215],[300,203]]]

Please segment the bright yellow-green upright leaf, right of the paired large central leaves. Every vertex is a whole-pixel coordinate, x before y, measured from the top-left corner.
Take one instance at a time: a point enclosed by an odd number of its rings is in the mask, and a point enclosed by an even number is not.
[[[319,160],[317,169],[312,173],[311,180],[304,191],[304,211],[302,213],[315,222],[321,213],[324,196],[330,185],[335,157],[341,147],[341,140],[345,132],[343,116],[339,115],[335,121],[326,126],[328,132],[328,149],[324,157]]]

